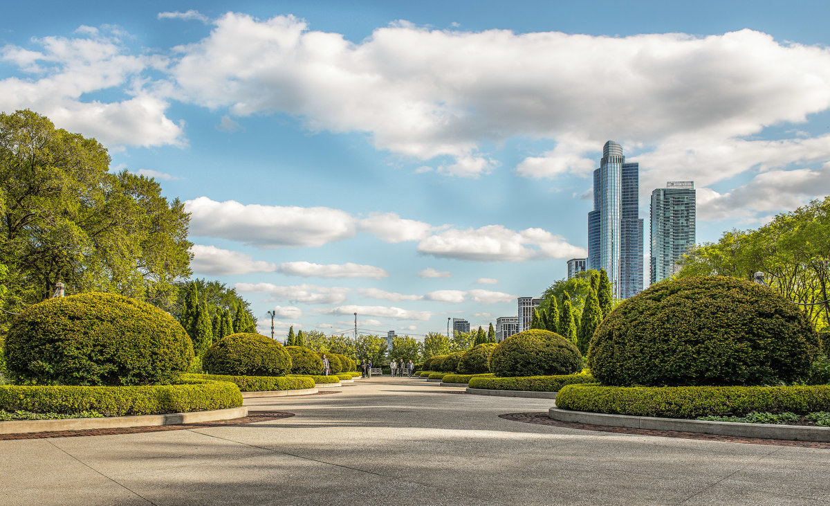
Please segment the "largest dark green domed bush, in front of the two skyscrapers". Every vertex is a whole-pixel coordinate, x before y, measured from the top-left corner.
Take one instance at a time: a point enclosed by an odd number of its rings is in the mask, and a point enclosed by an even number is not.
[[[661,282],[608,314],[588,349],[611,386],[765,385],[806,379],[818,336],[767,287],[710,276]]]

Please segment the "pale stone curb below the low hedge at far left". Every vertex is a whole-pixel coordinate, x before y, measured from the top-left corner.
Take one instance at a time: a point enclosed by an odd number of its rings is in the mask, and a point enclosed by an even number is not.
[[[246,406],[239,406],[236,408],[228,408],[227,410],[167,413],[165,415],[109,416],[106,418],[70,418],[67,420],[12,420],[0,422],[0,434],[194,424],[215,420],[231,420],[247,415],[248,408]]]

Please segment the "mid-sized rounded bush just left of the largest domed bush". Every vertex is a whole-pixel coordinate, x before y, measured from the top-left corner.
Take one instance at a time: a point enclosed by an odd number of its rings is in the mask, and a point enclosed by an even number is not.
[[[582,370],[582,356],[569,339],[531,329],[496,345],[490,371],[496,376],[554,376]]]

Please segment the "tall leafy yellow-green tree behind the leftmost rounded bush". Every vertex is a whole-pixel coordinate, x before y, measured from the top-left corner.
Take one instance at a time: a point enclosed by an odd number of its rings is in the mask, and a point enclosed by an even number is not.
[[[187,278],[189,215],[154,179],[110,173],[95,139],[56,129],[33,111],[0,114],[0,263],[7,305],[115,292],[169,309]],[[4,313],[5,314],[5,313]]]

